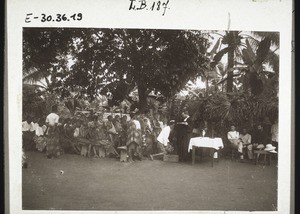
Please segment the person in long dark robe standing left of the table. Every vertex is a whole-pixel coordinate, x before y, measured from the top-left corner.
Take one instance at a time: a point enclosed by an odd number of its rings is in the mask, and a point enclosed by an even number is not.
[[[181,121],[177,123],[177,149],[180,161],[188,159],[188,144],[192,132],[192,121],[187,111],[182,112]]]

